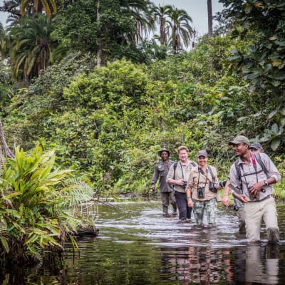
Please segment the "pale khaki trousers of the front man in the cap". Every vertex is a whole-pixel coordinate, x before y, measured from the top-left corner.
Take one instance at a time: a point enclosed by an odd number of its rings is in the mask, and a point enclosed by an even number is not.
[[[267,229],[279,229],[276,204],[273,197],[261,202],[244,203],[246,237],[248,242],[260,240],[261,221],[264,220]]]

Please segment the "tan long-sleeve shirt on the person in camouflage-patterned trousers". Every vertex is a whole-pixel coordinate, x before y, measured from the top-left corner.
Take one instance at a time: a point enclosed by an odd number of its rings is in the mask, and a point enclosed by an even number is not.
[[[209,167],[211,167],[212,174],[209,170]],[[192,199],[198,200],[198,201],[208,201],[210,199],[214,199],[217,197],[217,193],[212,192],[209,190],[209,182],[217,182],[217,170],[215,167],[211,165],[207,165],[207,170],[206,172],[201,172],[199,171],[199,167],[196,166],[192,168],[189,179],[188,179],[188,184],[187,187],[190,188],[190,191],[192,193]],[[199,185],[198,185],[199,182]],[[204,198],[199,198],[198,197],[198,192],[197,188],[199,187],[204,187]]]

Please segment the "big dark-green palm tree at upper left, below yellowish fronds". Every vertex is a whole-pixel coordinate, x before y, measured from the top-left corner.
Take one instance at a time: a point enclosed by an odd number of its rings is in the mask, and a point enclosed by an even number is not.
[[[38,76],[52,61],[51,19],[42,14],[27,16],[8,29],[11,34],[11,61],[14,72],[23,71],[24,84],[29,76]]]

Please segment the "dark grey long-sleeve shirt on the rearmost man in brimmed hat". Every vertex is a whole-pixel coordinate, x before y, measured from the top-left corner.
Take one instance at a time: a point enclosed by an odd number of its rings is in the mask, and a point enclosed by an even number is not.
[[[166,182],[167,173],[170,170],[170,166],[174,162],[168,160],[167,165],[161,160],[160,162],[155,165],[155,172],[152,175],[151,184],[155,185],[157,180],[160,181],[160,192],[172,192],[173,187]]]

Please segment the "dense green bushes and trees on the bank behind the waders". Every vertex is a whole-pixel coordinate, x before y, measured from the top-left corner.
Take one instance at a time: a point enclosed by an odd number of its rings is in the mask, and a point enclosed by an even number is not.
[[[177,41],[187,46],[192,35],[183,10],[144,0],[58,1],[58,14],[45,22],[56,61],[29,73],[36,77],[11,101],[3,97],[7,140],[55,147],[58,163],[88,177],[97,195],[147,192],[157,150],[168,147],[176,160],[181,144],[192,159],[207,149],[227,177],[227,142],[237,134],[262,142],[283,169],[284,1],[277,2],[222,0],[227,34],[174,54]],[[16,47],[15,28],[34,24],[32,16],[15,21],[5,43]],[[161,46],[142,37],[155,21]],[[95,68],[100,55],[104,64]]]

